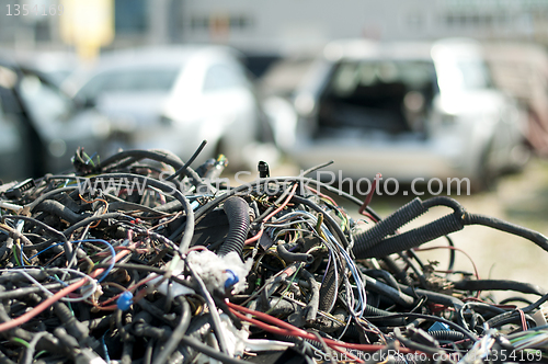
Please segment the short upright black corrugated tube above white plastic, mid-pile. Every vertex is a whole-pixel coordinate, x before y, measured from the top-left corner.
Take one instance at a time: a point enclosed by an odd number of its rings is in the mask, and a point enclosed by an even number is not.
[[[222,257],[236,251],[241,258],[250,225],[248,203],[242,197],[232,196],[225,202],[225,214],[228,217],[228,235],[217,254]]]

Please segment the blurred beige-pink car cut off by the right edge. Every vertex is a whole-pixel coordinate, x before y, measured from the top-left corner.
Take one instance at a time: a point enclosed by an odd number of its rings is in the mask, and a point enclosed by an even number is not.
[[[533,44],[487,44],[494,83],[516,98],[528,114],[527,141],[548,156],[548,54]]]

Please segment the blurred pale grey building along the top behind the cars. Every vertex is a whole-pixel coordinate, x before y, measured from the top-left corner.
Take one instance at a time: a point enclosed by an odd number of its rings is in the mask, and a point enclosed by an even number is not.
[[[59,16],[8,16],[14,3],[49,7],[62,0],[0,0],[0,45],[67,48]],[[109,47],[221,43],[244,52],[315,49],[341,37],[380,39],[472,36],[548,44],[545,0],[113,0],[115,39]]]

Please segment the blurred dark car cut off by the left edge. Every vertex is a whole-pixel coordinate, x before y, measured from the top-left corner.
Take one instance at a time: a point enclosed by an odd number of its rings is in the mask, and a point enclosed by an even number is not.
[[[12,60],[0,60],[0,178],[42,177],[71,168],[78,147],[100,152],[109,121]]]

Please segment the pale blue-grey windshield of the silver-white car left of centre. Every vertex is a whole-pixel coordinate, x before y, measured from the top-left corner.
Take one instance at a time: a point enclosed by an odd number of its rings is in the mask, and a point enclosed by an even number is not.
[[[96,98],[103,92],[168,92],[181,67],[140,68],[104,71],[93,77],[78,92],[79,96]]]

